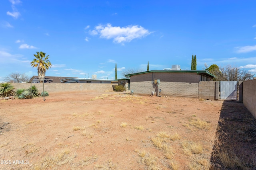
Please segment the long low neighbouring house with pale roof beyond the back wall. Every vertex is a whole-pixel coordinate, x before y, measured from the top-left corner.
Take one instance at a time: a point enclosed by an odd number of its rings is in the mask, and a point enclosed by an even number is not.
[[[62,83],[114,83],[117,84],[118,81],[110,79],[98,79],[98,78],[63,78],[60,80]]]

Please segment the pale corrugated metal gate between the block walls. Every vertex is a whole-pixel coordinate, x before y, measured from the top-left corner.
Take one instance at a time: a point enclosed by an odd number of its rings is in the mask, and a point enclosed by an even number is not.
[[[220,82],[220,99],[238,100],[238,82]]]

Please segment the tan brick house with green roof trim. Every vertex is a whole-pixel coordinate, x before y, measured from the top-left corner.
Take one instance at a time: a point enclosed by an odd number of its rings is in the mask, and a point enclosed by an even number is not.
[[[130,90],[134,94],[149,96],[153,91],[157,96],[196,98],[198,98],[198,83],[212,81],[215,77],[207,70],[152,70],[126,76],[130,77]]]

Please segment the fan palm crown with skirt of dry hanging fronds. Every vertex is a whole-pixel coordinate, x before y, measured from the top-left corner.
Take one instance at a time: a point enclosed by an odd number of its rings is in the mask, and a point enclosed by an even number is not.
[[[36,53],[37,55],[34,54],[36,58],[30,64],[33,67],[37,67],[38,78],[40,83],[42,83],[44,81],[46,69],[48,70],[49,67],[52,66],[52,63],[48,60],[49,55],[45,56],[46,53],[42,51]]]

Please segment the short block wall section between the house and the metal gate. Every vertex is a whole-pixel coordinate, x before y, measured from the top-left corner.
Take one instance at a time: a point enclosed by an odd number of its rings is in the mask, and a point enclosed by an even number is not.
[[[218,100],[216,93],[216,82],[199,82],[199,98],[208,100]]]

